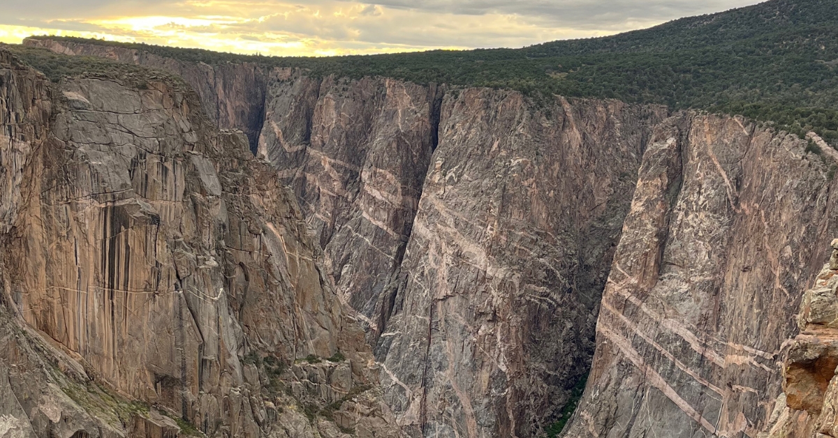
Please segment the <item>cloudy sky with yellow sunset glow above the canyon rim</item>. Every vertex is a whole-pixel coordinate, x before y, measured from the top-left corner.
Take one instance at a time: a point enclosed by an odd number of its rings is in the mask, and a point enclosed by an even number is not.
[[[605,36],[754,0],[0,0],[0,42],[80,36],[241,54],[524,47]]]

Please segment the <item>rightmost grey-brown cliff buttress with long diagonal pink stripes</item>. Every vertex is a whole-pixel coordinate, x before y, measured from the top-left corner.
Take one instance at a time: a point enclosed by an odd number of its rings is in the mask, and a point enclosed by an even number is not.
[[[565,436],[758,436],[809,403],[778,401],[779,358],[838,211],[804,147],[732,117],[655,129]]]

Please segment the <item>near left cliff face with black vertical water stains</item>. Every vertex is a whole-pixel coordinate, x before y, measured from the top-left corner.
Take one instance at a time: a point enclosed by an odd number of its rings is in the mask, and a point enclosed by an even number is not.
[[[293,194],[181,82],[115,70],[0,52],[0,432],[401,435]]]

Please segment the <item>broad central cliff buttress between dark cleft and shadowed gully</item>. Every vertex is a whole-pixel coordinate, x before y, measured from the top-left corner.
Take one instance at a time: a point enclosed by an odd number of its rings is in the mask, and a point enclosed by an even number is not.
[[[442,104],[376,355],[411,435],[535,436],[587,372],[599,291],[662,108],[463,90]]]

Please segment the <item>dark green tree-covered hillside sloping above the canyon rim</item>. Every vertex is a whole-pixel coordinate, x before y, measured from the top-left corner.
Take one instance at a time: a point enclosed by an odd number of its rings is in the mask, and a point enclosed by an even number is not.
[[[54,37],[49,37],[54,38]],[[524,49],[330,58],[221,54],[96,40],[177,59],[257,62],[313,75],[511,88],[742,114],[838,144],[838,1],[771,0],[598,39]]]

